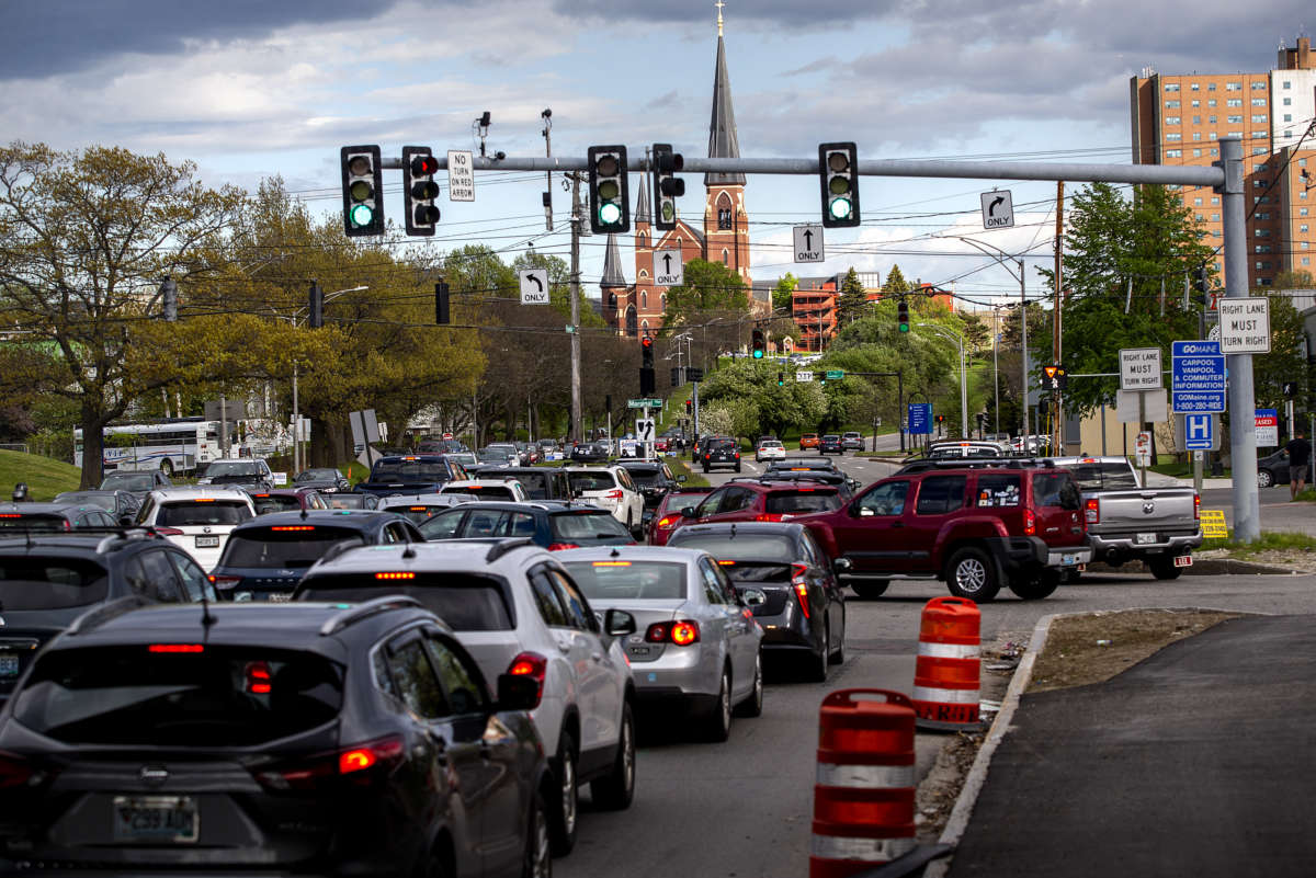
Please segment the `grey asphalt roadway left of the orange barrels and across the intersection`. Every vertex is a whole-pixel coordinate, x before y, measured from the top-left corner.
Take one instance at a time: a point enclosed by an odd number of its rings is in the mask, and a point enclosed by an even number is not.
[[[634,804],[595,812],[586,802],[575,852],[554,864],[559,878],[625,874],[633,878],[726,875],[801,878],[808,871],[817,708],[834,689],[870,686],[908,693],[919,616],[946,594],[940,584],[892,584],[875,601],[848,601],[848,657],[825,683],[770,680],[763,715],[737,719],[730,740],[690,740],[682,723],[641,720]],[[1316,612],[1316,576],[1088,574],[1045,601],[1008,593],[984,605],[983,641],[1026,641],[1051,612],[1129,607],[1219,607],[1267,614]],[[944,737],[917,736],[920,773]],[[1121,770],[1121,766],[1111,766]],[[1212,795],[1209,773],[1202,774]]]

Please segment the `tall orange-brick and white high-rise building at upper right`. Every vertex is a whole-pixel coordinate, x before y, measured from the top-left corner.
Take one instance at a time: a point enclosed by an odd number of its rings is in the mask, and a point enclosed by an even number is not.
[[[1129,121],[1136,164],[1211,164],[1220,159],[1219,138],[1241,137],[1250,196],[1249,287],[1270,287],[1283,272],[1312,271],[1316,57],[1308,37],[1299,38],[1296,49],[1282,47],[1269,72],[1144,70],[1129,80]],[[1220,196],[1195,187],[1182,187],[1182,195],[1204,241],[1219,247]],[[1223,262],[1217,255],[1217,271]]]

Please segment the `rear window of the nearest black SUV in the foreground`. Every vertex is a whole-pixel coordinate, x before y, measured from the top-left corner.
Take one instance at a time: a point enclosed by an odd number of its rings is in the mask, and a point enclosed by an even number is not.
[[[43,653],[13,719],[66,744],[251,747],[333,720],[342,668],[270,647],[150,644]]]

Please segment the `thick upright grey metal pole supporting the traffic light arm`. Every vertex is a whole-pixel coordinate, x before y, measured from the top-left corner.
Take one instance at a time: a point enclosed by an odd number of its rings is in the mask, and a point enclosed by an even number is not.
[[[1242,141],[1227,137],[1220,141],[1224,184],[1216,188],[1224,201],[1225,297],[1248,297],[1248,221],[1246,195],[1242,180]],[[1252,355],[1225,358],[1229,372],[1229,456],[1233,464],[1234,539],[1252,543],[1261,536],[1261,499],[1257,494],[1257,431],[1248,430],[1255,411],[1252,385]]]

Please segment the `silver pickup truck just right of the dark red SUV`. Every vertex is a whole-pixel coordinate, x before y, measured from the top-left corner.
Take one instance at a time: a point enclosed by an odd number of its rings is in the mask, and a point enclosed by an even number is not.
[[[1126,457],[1053,457],[1074,473],[1092,560],[1111,566],[1146,561],[1158,580],[1192,565],[1202,545],[1198,493],[1191,488],[1142,488]]]

